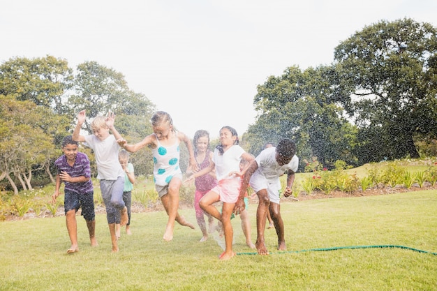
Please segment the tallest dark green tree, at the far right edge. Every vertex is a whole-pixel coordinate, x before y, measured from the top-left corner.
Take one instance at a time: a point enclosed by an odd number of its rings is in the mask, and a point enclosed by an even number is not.
[[[335,48],[336,96],[360,128],[362,163],[418,158],[437,134],[437,31],[410,19],[364,27]]]

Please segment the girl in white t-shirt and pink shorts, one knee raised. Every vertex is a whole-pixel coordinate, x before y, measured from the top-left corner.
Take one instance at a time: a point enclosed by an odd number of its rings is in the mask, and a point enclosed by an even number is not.
[[[224,126],[220,130],[220,144],[214,150],[212,163],[199,172],[195,172],[186,181],[195,179],[207,174],[212,170],[216,170],[218,185],[212,188],[205,196],[200,199],[200,207],[207,213],[211,214],[223,225],[225,234],[225,251],[218,257],[220,260],[229,260],[235,253],[232,251],[233,230],[230,223],[230,216],[234,211],[235,202],[238,199],[239,188],[241,186],[241,176],[244,174],[239,170],[239,163],[242,158],[252,161],[253,156],[246,153],[242,147],[238,145],[237,130],[230,126]],[[213,205],[222,201],[222,212],[218,211]],[[239,214],[239,213],[237,213]]]

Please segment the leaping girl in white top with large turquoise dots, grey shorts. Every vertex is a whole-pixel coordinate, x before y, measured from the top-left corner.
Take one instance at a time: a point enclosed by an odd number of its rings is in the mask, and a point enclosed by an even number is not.
[[[173,128],[173,121],[170,114],[163,111],[155,112],[151,117],[151,126],[154,133],[147,135],[141,142],[127,144],[126,140],[117,140],[126,151],[135,152],[147,145],[151,145],[154,156],[154,181],[163,207],[168,214],[168,223],[165,227],[163,239],[173,239],[175,221],[180,225],[194,229],[194,225],[188,223],[184,216],[179,216],[179,188],[182,185],[182,171],[179,167],[179,144],[184,142],[190,154],[190,166],[197,170],[195,163],[193,145],[190,139],[180,131]]]

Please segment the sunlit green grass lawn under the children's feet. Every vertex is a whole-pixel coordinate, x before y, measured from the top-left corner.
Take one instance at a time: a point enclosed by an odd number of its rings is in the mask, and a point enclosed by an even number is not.
[[[221,240],[200,243],[200,230],[177,225],[162,239],[164,211],[133,214],[132,236],[111,253],[104,214],[96,216],[99,246],[91,248],[77,216],[80,252],[70,246],[64,217],[0,223],[0,290],[437,290],[437,255],[400,248],[297,252],[334,246],[400,245],[437,253],[437,193],[286,202],[281,213],[288,252],[276,251],[266,230],[268,256],[244,255],[240,219],[232,220],[234,250],[221,262]],[[252,236],[256,204],[249,206]],[[181,214],[195,223],[194,209]],[[215,237],[215,238],[214,238]],[[217,240],[217,241],[216,241]],[[296,252],[295,252],[296,251]]]

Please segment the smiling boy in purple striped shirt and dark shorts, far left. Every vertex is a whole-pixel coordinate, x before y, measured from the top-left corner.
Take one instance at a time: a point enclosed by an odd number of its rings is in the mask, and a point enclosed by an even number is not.
[[[77,244],[76,212],[82,207],[82,216],[87,221],[89,240],[91,246],[97,246],[96,240],[96,214],[94,212],[94,188],[91,181],[91,169],[88,156],[77,151],[79,146],[71,135],[64,137],[62,151],[64,155],[57,158],[54,165],[57,167],[56,184],[52,202],[55,203],[59,196],[59,188],[64,182],[64,209],[67,223],[68,236],[71,246],[67,253],[79,251]]]

